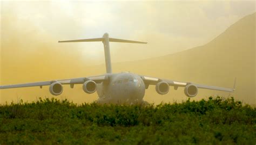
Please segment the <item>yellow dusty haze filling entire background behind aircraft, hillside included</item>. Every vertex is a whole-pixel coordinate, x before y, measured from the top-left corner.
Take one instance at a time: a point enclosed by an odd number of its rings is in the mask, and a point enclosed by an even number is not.
[[[126,8],[127,3],[131,8]],[[245,103],[255,104],[255,2],[57,5],[56,2],[1,2],[1,85],[104,74],[102,43],[58,44],[57,41],[97,38],[108,32],[113,38],[149,42],[147,45],[110,43],[114,73],[131,71],[226,88],[231,88],[237,77],[234,94],[199,89],[193,99],[234,95]],[[240,9],[235,11],[238,5]],[[105,6],[109,9],[103,11]],[[150,86],[144,99],[156,104],[187,99],[183,88],[170,89],[161,96]],[[96,93],[83,92],[82,85],[75,85],[74,89],[64,85],[64,92],[58,97],[49,93],[48,86],[1,90],[0,95],[2,104],[20,99],[30,102],[39,97],[67,98],[75,103],[97,99]]]

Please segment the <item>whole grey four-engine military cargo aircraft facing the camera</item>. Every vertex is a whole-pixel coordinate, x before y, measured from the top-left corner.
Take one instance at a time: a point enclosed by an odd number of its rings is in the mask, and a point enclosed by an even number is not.
[[[156,85],[156,91],[160,95],[165,95],[169,92],[170,86],[175,90],[178,87],[184,87],[184,93],[187,97],[194,97],[198,94],[198,89],[211,89],[218,91],[234,92],[235,82],[232,89],[221,88],[218,86],[208,86],[189,82],[172,81],[157,77],[149,77],[132,73],[112,73],[110,45],[109,42],[126,42],[136,44],[147,44],[147,42],[132,41],[109,38],[109,34],[105,33],[102,38],[67,40],[59,42],[94,42],[102,41],[104,45],[106,74],[99,76],[60,79],[46,82],[24,83],[15,85],[3,85],[0,89],[23,88],[31,86],[39,86],[42,88],[49,85],[49,91],[52,95],[58,96],[63,92],[63,85],[70,85],[71,88],[76,84],[83,84],[83,90],[86,93],[94,93],[97,91],[99,99],[98,103],[143,103],[145,90],[149,85]]]

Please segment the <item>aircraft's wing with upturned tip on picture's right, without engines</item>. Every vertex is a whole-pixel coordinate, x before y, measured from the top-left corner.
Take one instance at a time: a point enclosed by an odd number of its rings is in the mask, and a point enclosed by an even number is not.
[[[196,85],[197,88],[201,88],[201,89],[209,89],[209,90],[218,90],[218,91],[226,91],[226,92],[234,92],[235,91],[235,82],[234,82],[234,86],[233,88],[222,88],[222,87],[219,87],[219,86],[209,86],[209,85],[202,85],[202,84],[194,84],[194,83],[190,83],[190,82],[179,82],[179,81],[172,81],[172,80],[169,80],[169,79],[161,79],[161,78],[156,78],[156,77],[149,77],[149,76],[140,76],[145,85],[146,85],[146,88],[148,87],[148,85],[156,85],[158,82],[166,82],[169,84],[169,86],[174,86],[174,89],[178,89],[178,87],[185,87],[189,84],[193,84],[193,85]]]

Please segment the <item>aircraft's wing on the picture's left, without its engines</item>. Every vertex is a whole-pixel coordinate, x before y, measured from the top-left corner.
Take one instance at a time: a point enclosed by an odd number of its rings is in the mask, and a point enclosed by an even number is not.
[[[55,81],[45,81],[45,82],[35,82],[35,83],[24,83],[24,84],[14,84],[14,85],[2,85],[0,89],[11,89],[11,88],[24,88],[31,86],[42,86],[51,85],[52,83],[59,82],[60,84],[83,84],[86,81],[94,81],[96,83],[101,83],[103,81],[107,81],[109,79],[108,75],[100,75],[100,76],[91,76],[91,77],[80,77],[80,78],[71,78],[71,79],[60,79]]]

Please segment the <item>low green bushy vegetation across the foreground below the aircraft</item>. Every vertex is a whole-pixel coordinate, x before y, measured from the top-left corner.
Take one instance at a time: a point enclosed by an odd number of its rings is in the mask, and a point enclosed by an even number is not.
[[[0,106],[0,144],[255,144],[256,108],[233,98],[148,105]]]

